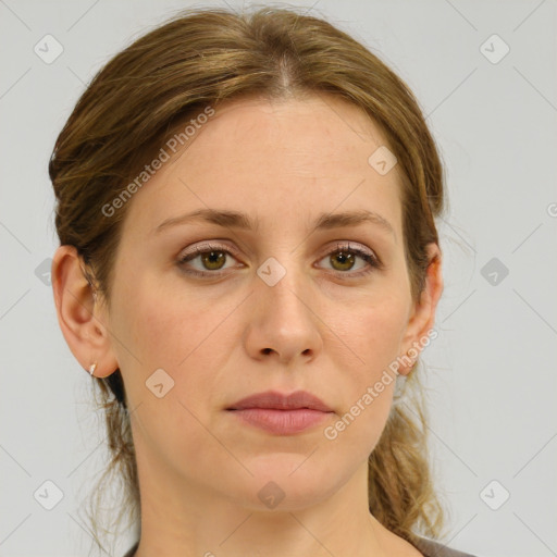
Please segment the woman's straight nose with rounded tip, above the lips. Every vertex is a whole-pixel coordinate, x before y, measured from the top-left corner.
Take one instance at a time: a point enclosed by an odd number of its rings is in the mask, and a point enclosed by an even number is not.
[[[297,366],[314,359],[323,341],[315,290],[302,272],[288,271],[273,286],[255,277],[245,343],[255,359]]]

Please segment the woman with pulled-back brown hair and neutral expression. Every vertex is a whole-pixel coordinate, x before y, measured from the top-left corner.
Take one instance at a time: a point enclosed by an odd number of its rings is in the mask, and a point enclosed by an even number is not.
[[[414,372],[443,170],[385,64],[292,10],[189,11],[99,72],[49,171],[126,557],[465,555]]]

